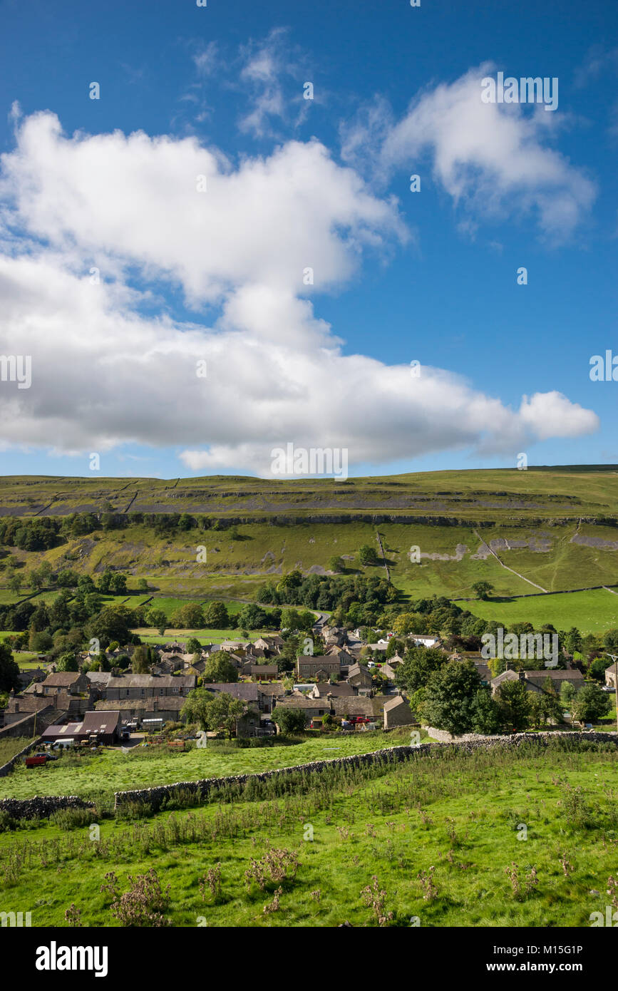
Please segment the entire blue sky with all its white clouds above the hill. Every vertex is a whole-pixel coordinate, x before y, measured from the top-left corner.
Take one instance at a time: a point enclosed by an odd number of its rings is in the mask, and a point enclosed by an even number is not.
[[[0,349],[33,369],[0,382],[3,474],[268,477],[287,442],[351,474],[618,463],[589,378],[618,354],[613,5],[0,16]],[[483,107],[498,70],[558,109]]]

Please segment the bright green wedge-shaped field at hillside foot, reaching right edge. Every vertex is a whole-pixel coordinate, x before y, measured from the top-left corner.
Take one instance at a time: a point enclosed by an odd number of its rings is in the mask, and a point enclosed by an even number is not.
[[[605,589],[503,602],[460,602],[458,606],[507,626],[514,622],[529,621],[533,626],[551,622],[557,629],[577,626],[582,633],[600,633],[618,626],[618,596]]]

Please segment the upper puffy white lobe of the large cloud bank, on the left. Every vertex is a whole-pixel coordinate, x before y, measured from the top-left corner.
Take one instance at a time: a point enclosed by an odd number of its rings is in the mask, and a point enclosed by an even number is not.
[[[27,118],[17,136],[1,158],[0,192],[32,234],[96,257],[102,271],[109,258],[166,275],[196,301],[248,284],[295,292],[307,267],[328,289],[354,273],[364,246],[408,236],[396,205],[318,142],[289,142],[233,169],[195,138],[68,139],[51,113]]]

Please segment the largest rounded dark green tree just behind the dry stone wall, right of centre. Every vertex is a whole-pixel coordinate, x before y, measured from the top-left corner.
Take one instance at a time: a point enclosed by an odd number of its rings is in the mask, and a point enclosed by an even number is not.
[[[480,676],[471,661],[450,661],[434,671],[425,688],[421,716],[427,723],[450,733],[468,732],[482,717],[476,702]]]

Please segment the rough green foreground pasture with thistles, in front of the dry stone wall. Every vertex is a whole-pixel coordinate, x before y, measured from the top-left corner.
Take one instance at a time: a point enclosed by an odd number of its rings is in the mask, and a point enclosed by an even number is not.
[[[83,926],[118,925],[106,873],[127,891],[128,875],[151,868],[169,885],[160,909],[175,927],[372,927],[381,916],[406,928],[578,928],[609,904],[615,747],[442,750],[277,787],[154,817],[143,809],[134,822],[99,816],[98,839],[83,818],[0,833],[2,909],[65,926],[74,904]],[[288,851],[283,876],[267,866],[273,850]],[[212,889],[200,885],[211,870]],[[377,912],[362,894],[372,884]]]

